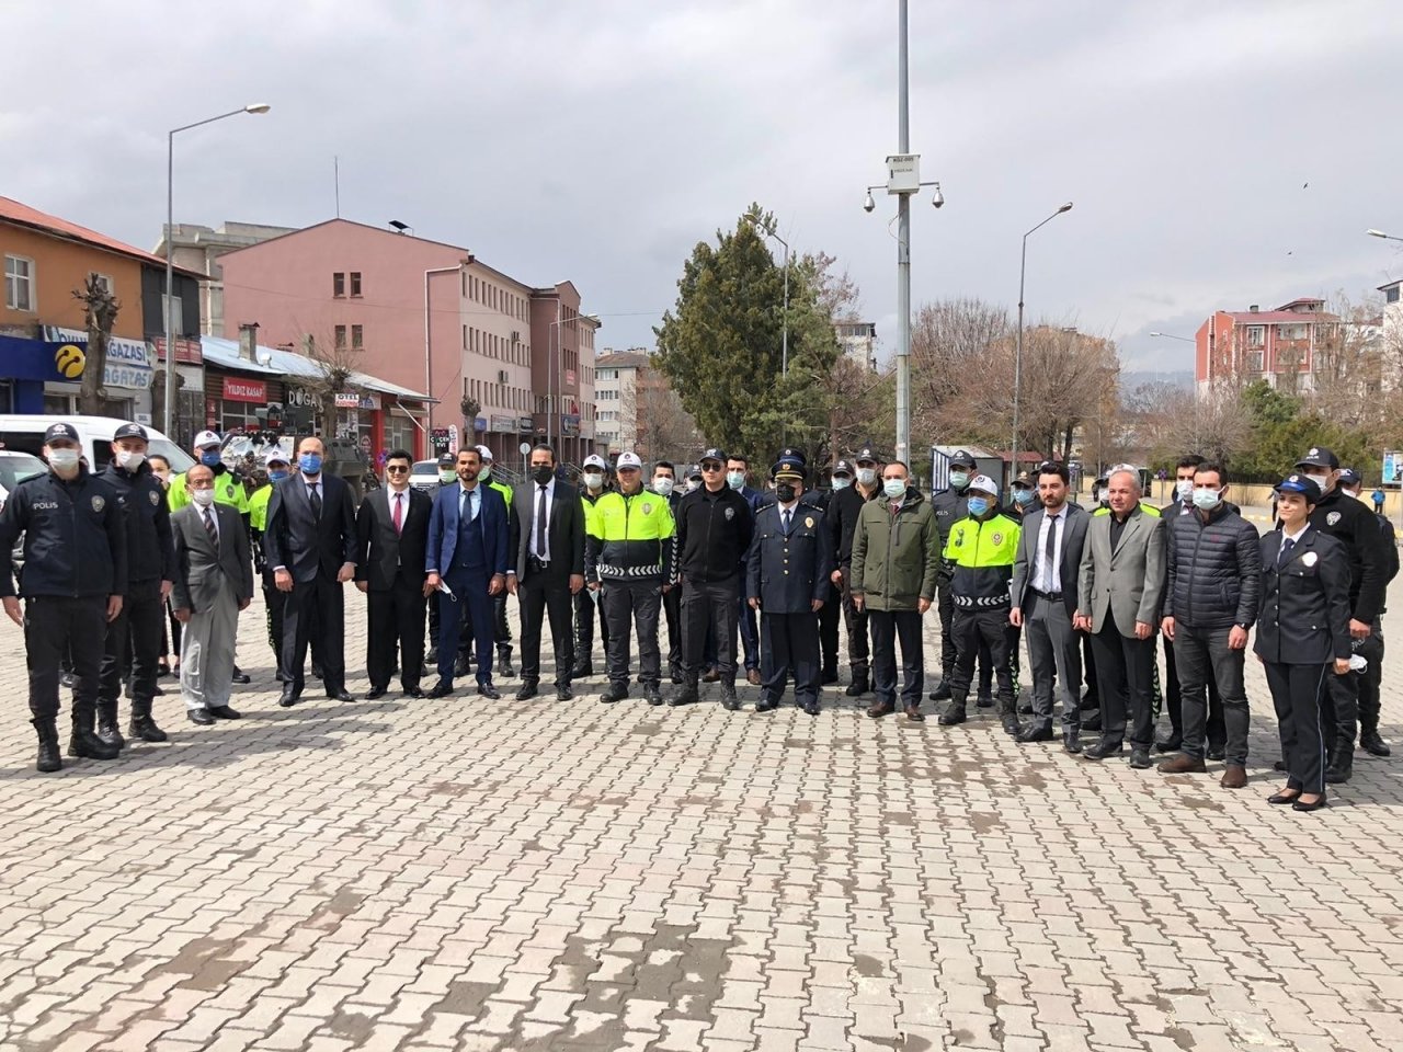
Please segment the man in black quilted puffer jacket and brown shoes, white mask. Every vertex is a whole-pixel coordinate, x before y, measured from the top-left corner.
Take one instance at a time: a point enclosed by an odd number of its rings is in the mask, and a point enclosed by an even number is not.
[[[1218,683],[1228,735],[1223,788],[1247,784],[1247,630],[1257,620],[1261,548],[1257,529],[1223,504],[1228,485],[1212,463],[1194,471],[1194,512],[1169,523],[1164,635],[1184,707],[1183,752],[1159,764],[1166,774],[1204,771],[1207,686]]]

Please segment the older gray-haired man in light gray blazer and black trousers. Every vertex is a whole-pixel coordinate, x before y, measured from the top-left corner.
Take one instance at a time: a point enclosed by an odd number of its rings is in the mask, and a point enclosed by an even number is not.
[[[1164,520],[1141,504],[1139,474],[1111,471],[1110,515],[1092,516],[1078,588],[1078,627],[1092,633],[1100,685],[1101,741],[1083,756],[1104,760],[1125,748],[1149,767],[1155,743],[1155,630],[1164,600]]]

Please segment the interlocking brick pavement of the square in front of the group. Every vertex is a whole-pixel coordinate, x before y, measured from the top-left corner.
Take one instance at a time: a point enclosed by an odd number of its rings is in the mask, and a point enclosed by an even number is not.
[[[835,689],[817,720],[598,679],[282,710],[261,624],[241,722],[192,727],[166,680],[168,745],[53,776],[7,628],[0,1048],[1403,1048],[1403,755],[1268,807],[1254,661],[1230,793]]]

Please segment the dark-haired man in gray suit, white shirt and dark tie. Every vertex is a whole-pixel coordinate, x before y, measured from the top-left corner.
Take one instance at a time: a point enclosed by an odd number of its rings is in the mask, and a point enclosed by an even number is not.
[[[1062,686],[1062,746],[1082,750],[1082,640],[1075,631],[1076,574],[1090,515],[1068,498],[1068,470],[1038,468],[1042,506],[1023,516],[1009,621],[1024,628],[1033,668],[1033,721],[1020,742],[1052,741],[1052,685]]]

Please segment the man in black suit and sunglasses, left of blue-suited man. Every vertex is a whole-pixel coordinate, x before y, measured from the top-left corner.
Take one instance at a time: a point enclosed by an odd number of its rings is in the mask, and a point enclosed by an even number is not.
[[[424,575],[424,553],[429,543],[429,515],[434,501],[410,485],[414,456],[396,449],[384,461],[384,481],[361,502],[355,526],[361,562],[355,568],[356,588],[369,596],[366,627],[368,701],[384,697],[394,675],[394,651],[400,651],[400,686],[405,697],[424,697],[424,609],[429,588]]]

